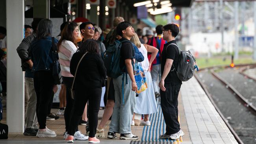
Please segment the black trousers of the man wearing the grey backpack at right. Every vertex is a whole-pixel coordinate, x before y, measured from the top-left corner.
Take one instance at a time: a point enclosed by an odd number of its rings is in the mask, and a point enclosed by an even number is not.
[[[165,92],[160,89],[161,108],[166,124],[166,135],[180,131],[178,122],[178,94],[181,85],[165,83]]]

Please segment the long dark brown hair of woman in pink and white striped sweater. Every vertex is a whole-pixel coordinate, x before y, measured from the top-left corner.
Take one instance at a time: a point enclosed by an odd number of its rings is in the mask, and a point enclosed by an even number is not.
[[[61,38],[58,41],[57,47],[61,45],[64,40],[72,41],[76,46],[76,39],[73,37],[73,31],[77,27],[76,22],[66,22],[64,29],[61,31]]]

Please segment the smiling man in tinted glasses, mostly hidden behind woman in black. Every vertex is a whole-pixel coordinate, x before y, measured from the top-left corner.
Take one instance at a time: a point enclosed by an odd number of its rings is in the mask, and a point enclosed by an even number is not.
[[[80,24],[79,28],[83,35],[82,42],[85,42],[87,39],[93,39],[93,35],[95,32],[95,27],[93,27],[93,23],[83,22],[82,24]],[[82,44],[82,42],[81,42],[81,44]],[[105,45],[101,41],[97,41],[97,43],[99,46],[99,54],[101,55],[102,53],[105,52],[106,48],[105,48]]]

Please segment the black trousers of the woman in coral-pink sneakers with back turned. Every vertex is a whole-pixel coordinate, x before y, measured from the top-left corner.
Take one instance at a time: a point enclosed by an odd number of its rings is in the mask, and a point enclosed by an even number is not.
[[[72,109],[71,120],[68,129],[69,135],[74,135],[76,127],[78,127],[78,123],[82,117],[85,104],[87,103],[87,100],[89,100],[89,137],[95,137],[96,128],[98,125],[98,112],[100,110],[101,93],[101,88],[83,88],[75,90],[74,106]]]

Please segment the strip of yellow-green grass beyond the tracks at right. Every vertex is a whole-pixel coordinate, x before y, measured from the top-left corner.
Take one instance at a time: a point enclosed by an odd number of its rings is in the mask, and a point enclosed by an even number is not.
[[[221,57],[211,57],[211,58],[197,58],[197,65],[200,68],[206,68],[210,66],[220,66],[220,65],[230,65],[231,63],[231,56],[221,56]],[[256,63],[256,61],[252,60],[251,56],[243,56],[239,57],[239,59],[234,59],[234,64],[250,64]]]

